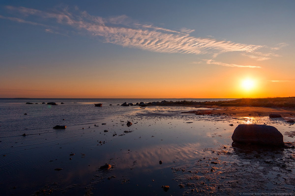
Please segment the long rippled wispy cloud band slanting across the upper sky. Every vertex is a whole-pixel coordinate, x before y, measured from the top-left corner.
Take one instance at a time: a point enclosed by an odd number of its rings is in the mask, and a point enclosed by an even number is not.
[[[266,60],[274,56],[271,53],[258,52],[259,49],[266,48],[266,46],[220,41],[211,37],[197,38],[189,35],[189,33],[194,31],[192,29],[182,28],[180,31],[174,31],[151,24],[140,24],[126,15],[103,18],[92,16],[86,11],[79,11],[77,7],[75,7],[74,13],[67,8],[52,12],[25,7],[6,6],[6,8],[16,11],[24,17],[30,16],[30,19],[33,18],[32,16],[35,16],[38,22],[41,20],[50,25],[55,23],[59,27],[68,26],[75,29],[78,34],[87,33],[92,37],[102,38],[106,43],[113,43],[123,47],[140,48],[161,53],[210,54],[213,58],[218,54],[233,51],[242,52],[242,55],[256,60]],[[1,18],[32,25],[48,26],[37,22],[25,21],[24,19],[5,16],[1,16]],[[60,28],[56,29],[60,30]],[[57,33],[52,28],[46,28],[45,31]],[[222,66],[258,68],[256,66],[210,62],[210,64],[218,63]]]

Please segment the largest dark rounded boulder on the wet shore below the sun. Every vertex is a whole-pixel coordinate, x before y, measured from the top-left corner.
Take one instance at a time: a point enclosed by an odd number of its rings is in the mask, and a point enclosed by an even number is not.
[[[269,125],[240,124],[235,128],[232,140],[238,143],[284,146],[281,132]]]

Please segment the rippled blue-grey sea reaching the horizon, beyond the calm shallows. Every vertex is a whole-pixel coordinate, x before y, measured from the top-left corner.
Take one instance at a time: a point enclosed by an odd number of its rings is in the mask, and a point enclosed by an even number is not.
[[[86,126],[87,124],[101,123],[105,118],[142,111],[139,106],[121,106],[124,102],[135,104],[137,102],[161,102],[162,100],[175,102],[184,99],[0,98],[0,138],[18,136],[24,132],[26,134],[39,134],[52,130],[55,125],[66,125],[69,129],[77,125]],[[232,99],[188,98],[186,100],[204,102]],[[26,104],[27,102],[34,104]],[[55,102],[57,105],[42,104],[43,102]],[[94,103],[102,103],[102,107],[95,107]],[[149,109],[151,108],[156,109],[157,107],[150,106]],[[170,107],[169,110],[173,110],[173,107]],[[25,113],[27,115],[24,115]]]

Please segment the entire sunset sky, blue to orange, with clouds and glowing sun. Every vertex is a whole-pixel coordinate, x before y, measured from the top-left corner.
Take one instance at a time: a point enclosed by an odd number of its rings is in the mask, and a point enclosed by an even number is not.
[[[1,1],[0,98],[295,96],[295,1]]]

